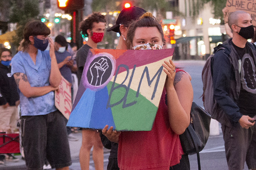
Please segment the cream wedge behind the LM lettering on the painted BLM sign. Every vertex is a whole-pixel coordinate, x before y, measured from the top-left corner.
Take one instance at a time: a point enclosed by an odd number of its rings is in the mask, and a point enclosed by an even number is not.
[[[168,61],[171,58],[172,57],[168,57],[168,58],[162,59],[162,60],[154,62],[154,63],[150,63],[150,64],[143,65],[143,66],[140,66],[140,67],[136,67],[135,71],[134,71],[134,75],[133,75],[133,79],[132,79],[130,88],[132,90],[134,90],[135,92],[137,92],[139,82],[141,80],[141,76],[142,76],[142,73],[143,73],[145,67],[148,67],[149,77],[150,77],[150,80],[152,80],[152,78],[154,77],[154,75],[156,74],[158,69],[164,63],[164,60]],[[128,75],[126,81],[124,82],[124,84],[126,86],[128,86],[128,84],[129,84],[129,80],[130,80],[132,71],[133,71],[133,69],[129,70],[129,75]],[[123,82],[123,80],[125,79],[126,74],[127,74],[127,71],[119,73],[116,77],[115,83],[121,84]],[[158,107],[159,101],[161,99],[161,95],[162,95],[162,92],[163,92],[164,83],[165,83],[165,79],[166,79],[166,73],[164,73],[164,71],[161,72],[160,79],[159,79],[158,86],[157,86],[156,93],[155,93],[155,97],[153,98],[153,100],[151,100],[152,94],[154,92],[157,77],[158,77],[158,75],[156,75],[156,77],[154,78],[151,85],[148,86],[146,73],[144,73],[144,76],[143,76],[143,79],[142,79],[142,82],[141,82],[140,91],[139,91],[141,95],[146,97],[146,99],[148,99],[156,107]],[[112,77],[112,79],[111,79],[112,82],[114,81],[114,78],[115,78],[115,76]]]

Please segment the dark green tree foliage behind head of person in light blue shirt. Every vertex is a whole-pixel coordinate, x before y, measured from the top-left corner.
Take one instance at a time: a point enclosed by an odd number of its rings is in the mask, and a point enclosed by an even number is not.
[[[13,36],[13,44],[18,47],[22,40],[25,24],[32,19],[38,19],[40,13],[39,3],[38,0],[13,0],[11,1],[10,11],[9,22],[17,23],[15,30],[16,36]]]

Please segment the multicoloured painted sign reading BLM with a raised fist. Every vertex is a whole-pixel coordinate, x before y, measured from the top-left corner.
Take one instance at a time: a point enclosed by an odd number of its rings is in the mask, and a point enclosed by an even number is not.
[[[150,131],[173,49],[90,49],[67,126]]]

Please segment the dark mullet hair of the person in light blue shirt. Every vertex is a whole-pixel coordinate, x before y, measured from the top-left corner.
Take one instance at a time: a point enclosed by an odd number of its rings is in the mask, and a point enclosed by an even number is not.
[[[23,40],[20,42],[20,46],[18,47],[19,51],[25,51],[28,48],[28,44],[30,44],[29,37],[37,36],[37,35],[50,35],[50,29],[41,21],[30,21],[25,25],[23,30]]]

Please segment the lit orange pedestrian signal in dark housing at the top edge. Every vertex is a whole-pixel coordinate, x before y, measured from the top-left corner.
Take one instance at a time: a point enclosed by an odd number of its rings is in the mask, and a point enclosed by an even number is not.
[[[84,0],[57,0],[58,8],[75,11],[84,7]]]

